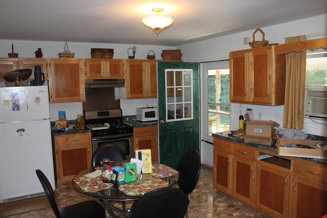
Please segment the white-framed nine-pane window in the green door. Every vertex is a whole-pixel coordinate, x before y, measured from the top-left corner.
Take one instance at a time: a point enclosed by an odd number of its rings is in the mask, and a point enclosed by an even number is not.
[[[166,69],[167,122],[193,118],[193,70]]]

